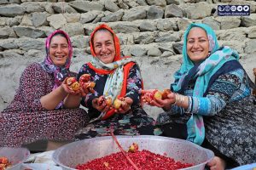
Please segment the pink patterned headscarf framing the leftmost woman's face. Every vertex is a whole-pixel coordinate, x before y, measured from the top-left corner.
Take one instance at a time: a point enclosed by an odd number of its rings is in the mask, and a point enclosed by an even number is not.
[[[56,34],[62,34],[67,38],[67,44],[68,44],[68,58],[63,66],[58,66],[53,63],[53,61],[49,57],[49,44],[51,41],[51,38],[54,37]],[[49,72],[49,73],[54,73],[55,76],[55,85],[54,88],[58,88],[61,86],[61,82],[66,78],[69,77],[70,71],[69,67],[71,64],[71,57],[73,54],[73,47],[70,41],[70,38],[68,37],[67,33],[65,31],[61,30],[56,30],[52,32],[49,37],[47,37],[46,42],[45,42],[45,49],[46,49],[46,57],[44,61],[41,63],[42,67],[44,68],[44,71]]]

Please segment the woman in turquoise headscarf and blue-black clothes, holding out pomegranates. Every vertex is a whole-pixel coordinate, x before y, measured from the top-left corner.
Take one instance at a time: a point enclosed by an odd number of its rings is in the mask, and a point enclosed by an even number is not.
[[[211,169],[256,160],[256,105],[253,82],[235,50],[219,47],[211,27],[190,24],[184,33],[183,64],[172,93],[149,105],[164,109],[157,118],[163,135],[187,139],[214,151]],[[143,94],[150,90],[143,90]]]

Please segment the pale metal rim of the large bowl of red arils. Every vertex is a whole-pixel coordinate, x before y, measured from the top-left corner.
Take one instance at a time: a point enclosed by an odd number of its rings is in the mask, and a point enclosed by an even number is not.
[[[164,136],[154,136],[154,135],[137,135],[137,136],[128,136],[128,135],[116,135],[116,138],[117,139],[131,139],[131,138],[136,138],[136,139],[165,139],[165,140],[172,140],[172,141],[175,141],[175,142],[182,142],[182,143],[186,143],[186,144],[189,144],[193,147],[195,147],[196,149],[200,149],[200,150],[204,150],[206,151],[207,153],[209,153],[209,157],[211,157],[211,159],[207,160],[207,161],[204,161],[204,162],[201,162],[201,164],[197,164],[195,166],[193,166],[193,168],[195,167],[201,167],[202,165],[206,165],[207,162],[211,161],[214,157],[214,153],[212,150],[208,150],[206,148],[203,148],[201,147],[200,145],[198,144],[194,144],[192,142],[189,142],[188,140],[184,140],[184,139],[175,139],[175,138],[170,138],[170,137],[164,137]],[[57,164],[57,165],[60,165],[61,167],[65,167],[67,169],[73,169],[75,170],[75,168],[73,167],[67,167],[65,165],[63,165],[60,161],[56,160],[56,156],[61,152],[61,150],[64,150],[65,148],[67,148],[69,145],[73,145],[74,143],[75,144],[79,144],[79,143],[83,143],[84,140],[90,142],[90,141],[98,141],[98,140],[105,140],[105,139],[113,139],[112,136],[102,136],[102,137],[95,137],[95,138],[91,138],[91,139],[82,139],[82,140],[78,140],[78,141],[74,141],[72,143],[69,143],[69,144],[65,144],[63,146],[61,146],[60,148],[58,148],[57,150],[54,151],[53,155],[52,155],[52,159],[53,161]],[[186,167],[186,168],[182,168],[183,170],[186,170],[186,169],[189,169],[191,167]]]

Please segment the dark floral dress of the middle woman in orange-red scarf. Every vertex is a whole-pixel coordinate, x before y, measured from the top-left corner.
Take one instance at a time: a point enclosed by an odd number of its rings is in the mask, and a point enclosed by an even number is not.
[[[91,81],[96,82],[95,94],[87,94],[81,104],[89,109],[90,119],[99,116],[101,113],[92,107],[92,99],[103,94],[108,75],[100,75],[85,64],[79,71],[78,79],[83,74],[90,74]],[[113,127],[116,135],[154,135],[159,134],[159,128],[154,127],[154,119],[149,117],[140,105],[140,94],[142,89],[142,78],[137,65],[133,65],[129,72],[126,97],[133,99],[131,110],[125,114],[114,114],[106,120],[92,122],[86,127],[80,128],[76,134],[77,139],[88,139],[98,136],[110,135],[110,127]]]

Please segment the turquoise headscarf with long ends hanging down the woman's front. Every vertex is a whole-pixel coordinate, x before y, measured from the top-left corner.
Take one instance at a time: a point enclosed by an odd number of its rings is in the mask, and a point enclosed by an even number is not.
[[[187,37],[189,31],[193,27],[200,27],[207,32],[207,37],[209,41],[209,55],[207,59],[204,59],[200,65],[195,65],[189,55],[187,54]],[[195,88],[193,90],[193,96],[203,97],[207,91],[209,81],[211,77],[228,61],[239,59],[237,52],[227,46],[219,48],[217,37],[210,26],[205,24],[192,23],[189,25],[184,33],[183,42],[183,64],[180,70],[178,70],[174,77],[175,82],[171,85],[174,92],[178,92],[183,88],[184,78],[191,74],[192,69],[195,69],[195,74],[193,74],[193,79],[195,80]],[[188,138],[187,140],[194,142],[195,144],[202,144],[205,139],[205,127],[203,122],[203,117],[198,114],[193,114],[187,122]]]

